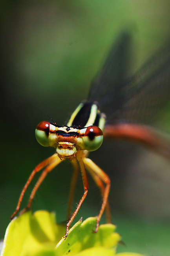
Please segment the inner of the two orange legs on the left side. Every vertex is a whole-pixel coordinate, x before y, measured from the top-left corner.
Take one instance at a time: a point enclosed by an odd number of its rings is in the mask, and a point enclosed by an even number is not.
[[[64,158],[60,159],[58,157],[58,155],[56,155],[56,159],[52,162],[52,163],[49,163],[49,165],[44,169],[44,171],[42,172],[42,174],[40,175],[37,183],[35,184],[32,192],[31,192],[31,195],[29,197],[29,201],[28,201],[28,204],[27,204],[27,207],[24,208],[22,211],[20,211],[20,214],[24,213],[25,211],[29,210],[31,208],[31,204],[33,202],[33,198],[35,196],[35,193],[37,192],[38,190],[38,187],[41,185],[41,183],[43,182],[44,178],[46,177],[46,175],[52,170],[54,169],[54,167],[56,165],[58,165],[61,161],[63,161]]]

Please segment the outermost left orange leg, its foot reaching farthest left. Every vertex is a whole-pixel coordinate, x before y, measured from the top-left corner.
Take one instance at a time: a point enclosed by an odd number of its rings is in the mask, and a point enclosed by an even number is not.
[[[59,159],[60,160],[60,159]],[[13,219],[13,217],[16,215],[16,213],[20,210],[20,205],[21,205],[21,202],[22,202],[22,199],[24,197],[24,194],[26,192],[26,189],[27,187],[29,186],[29,184],[31,183],[35,173],[37,173],[38,171],[40,171],[41,169],[43,169],[46,165],[50,165],[50,163],[56,163],[56,165],[58,163],[60,163],[60,161],[58,160],[58,156],[56,154],[54,154],[53,156],[50,156],[49,158],[47,158],[46,160],[42,161],[39,165],[37,165],[37,167],[33,170],[33,172],[31,173],[31,175],[29,176],[27,182],[26,182],[26,185],[24,186],[22,192],[21,192],[21,195],[20,195],[20,198],[18,200],[18,204],[16,206],[16,210],[15,212],[13,213],[13,215],[11,216],[11,220]]]

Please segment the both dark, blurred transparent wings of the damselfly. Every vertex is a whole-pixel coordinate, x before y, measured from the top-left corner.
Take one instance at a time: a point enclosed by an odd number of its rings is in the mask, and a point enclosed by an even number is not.
[[[170,43],[127,80],[130,43],[130,35],[122,33],[91,84],[89,100],[99,102],[108,124],[150,123],[170,100]]]

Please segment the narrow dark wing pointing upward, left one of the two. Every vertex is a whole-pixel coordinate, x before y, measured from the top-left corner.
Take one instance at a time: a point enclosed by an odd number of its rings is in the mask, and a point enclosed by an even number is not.
[[[103,112],[108,112],[107,108],[112,108],[111,112],[115,111],[122,105],[121,87],[128,72],[130,45],[130,33],[122,33],[116,43],[113,43],[102,69],[91,83],[88,100],[98,101]],[[107,104],[108,98],[110,102]],[[114,105],[117,107],[113,108]]]

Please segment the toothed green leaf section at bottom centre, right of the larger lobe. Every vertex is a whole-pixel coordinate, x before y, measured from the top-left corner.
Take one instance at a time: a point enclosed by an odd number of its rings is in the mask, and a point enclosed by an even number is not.
[[[56,255],[60,256],[66,253],[69,253],[69,256],[77,255],[78,252],[92,247],[112,248],[115,247],[121,239],[120,235],[114,232],[115,226],[112,224],[101,225],[99,226],[98,232],[93,233],[95,228],[95,217],[88,218],[83,223],[78,221],[73,228],[69,230],[67,239],[62,239],[58,243]],[[112,250],[115,251],[115,249]]]

